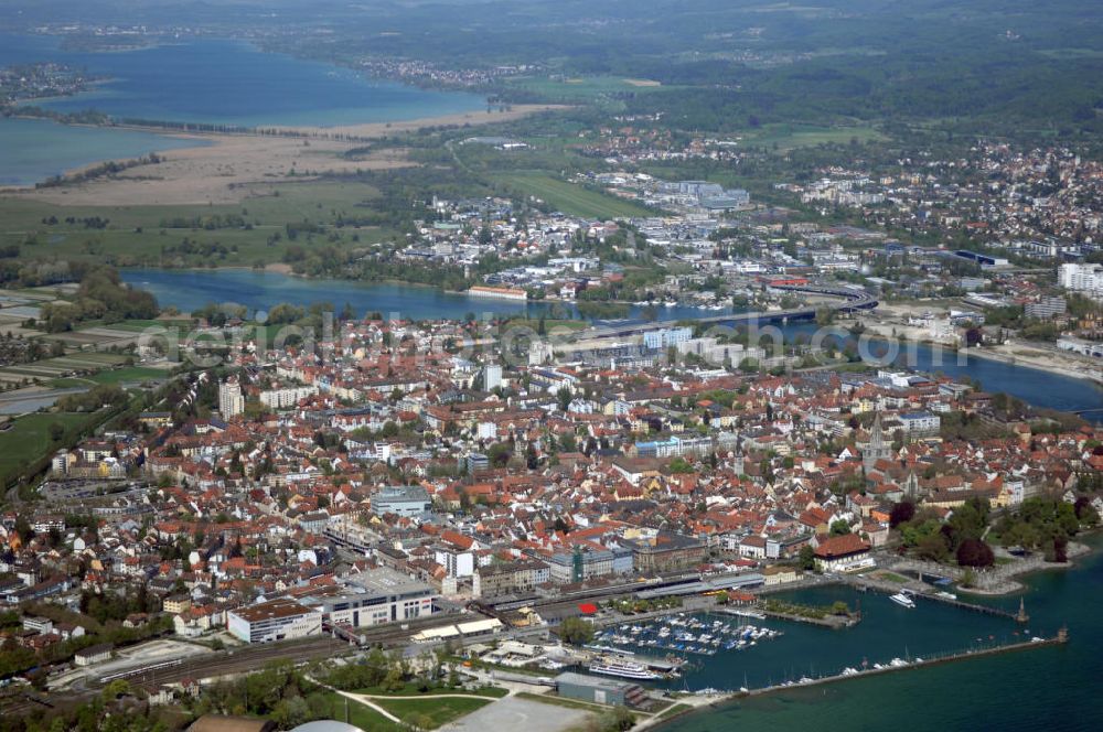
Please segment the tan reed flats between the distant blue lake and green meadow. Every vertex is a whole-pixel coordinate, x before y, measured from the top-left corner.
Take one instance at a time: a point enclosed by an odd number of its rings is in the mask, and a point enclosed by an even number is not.
[[[415,165],[401,149],[347,158],[363,141],[428,127],[488,125],[518,119],[560,107],[518,105],[508,111],[473,111],[403,122],[345,127],[266,128],[306,137],[271,134],[180,133],[172,137],[204,144],[159,152],[162,162],[130,168],[110,179],[49,189],[0,189],[0,195],[74,206],[205,205],[238,203],[270,195],[278,184],[310,180],[325,173],[353,173]],[[162,129],[148,131],[163,133]],[[342,139],[334,139],[342,138]],[[349,139],[356,138],[356,139]],[[85,166],[67,174],[87,170]],[[292,175],[293,172],[293,175]]]

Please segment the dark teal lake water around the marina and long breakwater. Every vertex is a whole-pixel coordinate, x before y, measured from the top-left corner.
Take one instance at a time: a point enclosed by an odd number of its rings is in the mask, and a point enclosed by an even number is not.
[[[1096,552],[1100,537],[1088,540]],[[717,710],[687,715],[665,732],[721,730],[1101,730],[1103,707],[1097,693],[1103,678],[1103,558],[1095,553],[1071,569],[1031,575],[1025,593],[1031,635],[1052,635],[1068,625],[1064,646],[982,657],[807,689],[751,698]],[[690,688],[738,688],[748,672],[751,687],[763,679],[838,672],[846,666],[870,664],[904,653],[949,652],[1016,639],[1016,623],[955,611],[928,601],[915,610],[887,598],[847,590],[823,589],[796,595],[826,602],[860,598],[863,622],[848,631],[765,621],[784,629],[777,640],[743,652],[717,655],[704,670],[690,675]],[[1015,609],[1019,596],[992,600]],[[985,602],[985,601],[982,601]]]

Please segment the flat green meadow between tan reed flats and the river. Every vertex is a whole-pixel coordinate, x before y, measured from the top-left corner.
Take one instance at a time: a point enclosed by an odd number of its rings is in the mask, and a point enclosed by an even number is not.
[[[378,191],[364,183],[302,182],[281,186],[279,196],[214,206],[60,206],[0,197],[0,246],[20,245],[22,259],[61,257],[119,267],[253,267],[281,261],[293,245],[352,248],[387,238],[386,232],[373,226],[333,227],[339,217],[364,216],[377,196]],[[240,216],[248,228],[171,226],[178,218],[211,222],[216,215]],[[74,220],[66,220],[71,217]],[[106,227],[85,224],[96,217],[107,219]],[[289,240],[286,227],[304,220],[325,225],[328,232],[300,233]],[[269,237],[277,234],[280,239],[269,245]]]

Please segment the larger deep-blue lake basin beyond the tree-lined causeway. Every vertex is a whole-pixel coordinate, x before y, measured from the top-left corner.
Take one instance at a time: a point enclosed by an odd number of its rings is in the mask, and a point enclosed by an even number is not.
[[[188,40],[135,51],[63,51],[52,36],[0,34],[0,65],[56,61],[107,78],[41,104],[117,118],[221,125],[387,122],[484,109],[484,97],[374,80],[229,40]]]

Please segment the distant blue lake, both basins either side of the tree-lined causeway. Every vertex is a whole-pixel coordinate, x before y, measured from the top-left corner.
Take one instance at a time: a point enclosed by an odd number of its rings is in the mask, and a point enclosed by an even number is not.
[[[0,66],[61,62],[109,80],[85,94],[25,104],[96,109],[116,118],[219,125],[331,127],[482,109],[483,97],[372,80],[329,64],[196,40],[126,52],[63,51],[54,36],[0,33]],[[0,185],[30,185],[103,160],[195,147],[194,141],[45,120],[0,119]]]

